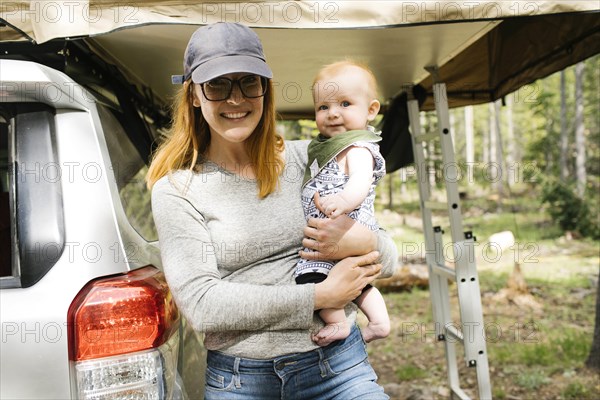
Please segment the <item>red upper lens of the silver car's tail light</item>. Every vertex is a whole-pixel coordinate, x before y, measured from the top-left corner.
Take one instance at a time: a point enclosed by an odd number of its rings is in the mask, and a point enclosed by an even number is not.
[[[162,272],[144,267],[89,282],[69,308],[69,358],[88,360],[155,348],[179,312]]]

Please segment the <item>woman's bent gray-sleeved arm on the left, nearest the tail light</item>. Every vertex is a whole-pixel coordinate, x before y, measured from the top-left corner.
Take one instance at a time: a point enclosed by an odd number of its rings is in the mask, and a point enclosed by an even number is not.
[[[314,285],[253,285],[221,278],[202,214],[168,181],[152,191],[161,258],[177,306],[198,331],[307,329]]]

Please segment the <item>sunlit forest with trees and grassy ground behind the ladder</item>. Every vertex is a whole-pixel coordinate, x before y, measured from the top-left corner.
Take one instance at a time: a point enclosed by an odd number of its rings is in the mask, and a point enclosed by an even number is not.
[[[435,112],[421,112],[424,133],[436,123]],[[600,56],[494,103],[452,109],[450,123],[463,225],[481,244],[476,257],[494,398],[600,398]],[[287,139],[317,134],[311,120],[283,121],[280,131]],[[441,149],[427,151],[427,179],[445,200]],[[388,173],[377,190],[377,217],[394,237],[403,268],[423,266],[414,166]],[[447,228],[443,213],[434,219]],[[491,235],[508,231],[513,242],[486,247]],[[518,298],[506,295],[515,274]],[[426,286],[385,293],[392,334],[369,345],[392,398],[449,395]],[[461,385],[477,397],[473,369],[463,359],[459,365]]]

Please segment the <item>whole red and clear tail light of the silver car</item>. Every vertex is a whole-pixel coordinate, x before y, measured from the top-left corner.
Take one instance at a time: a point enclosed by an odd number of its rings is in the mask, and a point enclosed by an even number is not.
[[[179,313],[162,272],[144,267],[89,282],[68,321],[74,397],[170,397]]]

